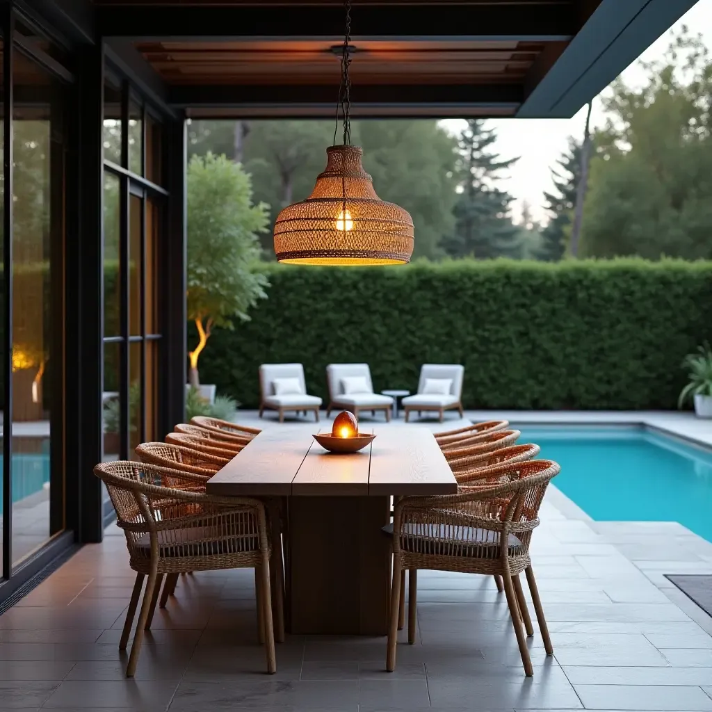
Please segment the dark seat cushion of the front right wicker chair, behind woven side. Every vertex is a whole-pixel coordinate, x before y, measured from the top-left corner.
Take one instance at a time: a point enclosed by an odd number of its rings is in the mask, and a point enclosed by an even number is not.
[[[480,527],[451,524],[414,523],[403,527],[401,549],[436,556],[465,556],[473,559],[493,559],[499,556],[499,532]],[[381,528],[384,535],[393,537],[393,523]],[[508,535],[509,555],[520,553],[522,543],[515,535]]]

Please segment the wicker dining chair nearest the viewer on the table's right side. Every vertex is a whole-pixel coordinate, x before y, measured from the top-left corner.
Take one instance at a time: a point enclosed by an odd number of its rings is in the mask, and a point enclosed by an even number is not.
[[[481,486],[462,487],[456,495],[405,497],[397,503],[392,525],[384,528],[393,550],[388,671],[395,667],[404,569],[409,570],[409,643],[415,641],[418,569],[501,575],[524,671],[532,676],[522,629],[524,623],[526,634],[534,633],[519,580],[525,572],[546,653],[553,654],[529,546],[544,493],[559,470],[550,460],[497,465]]]

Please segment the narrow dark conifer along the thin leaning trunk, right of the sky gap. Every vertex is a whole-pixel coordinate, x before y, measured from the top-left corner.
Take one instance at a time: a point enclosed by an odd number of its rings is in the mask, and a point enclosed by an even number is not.
[[[576,190],[581,177],[581,157],[581,142],[570,136],[567,150],[557,160],[557,166],[551,169],[556,190],[544,193],[545,209],[550,219],[541,231],[542,246],[539,258],[542,260],[557,262],[566,251],[576,205]]]

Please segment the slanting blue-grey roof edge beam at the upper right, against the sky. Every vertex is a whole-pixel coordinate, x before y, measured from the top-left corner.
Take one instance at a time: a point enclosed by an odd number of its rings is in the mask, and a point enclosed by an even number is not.
[[[532,68],[521,118],[574,115],[648,48],[696,0],[601,0],[550,66]],[[542,62],[545,58],[542,57]]]

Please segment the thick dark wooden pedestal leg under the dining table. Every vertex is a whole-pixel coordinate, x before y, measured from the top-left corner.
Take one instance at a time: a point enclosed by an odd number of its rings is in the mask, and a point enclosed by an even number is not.
[[[387,634],[389,499],[289,498],[292,634]]]

